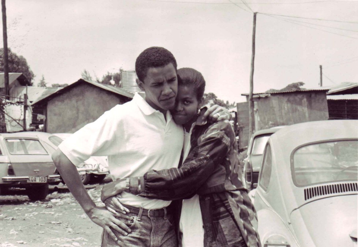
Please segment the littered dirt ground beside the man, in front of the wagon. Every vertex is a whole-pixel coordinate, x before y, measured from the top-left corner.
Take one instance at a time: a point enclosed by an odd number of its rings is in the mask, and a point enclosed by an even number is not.
[[[95,203],[104,206],[99,199],[102,185],[86,188]],[[0,195],[0,247],[100,246],[101,233],[66,186],[50,186],[47,198],[35,202],[21,191]]]

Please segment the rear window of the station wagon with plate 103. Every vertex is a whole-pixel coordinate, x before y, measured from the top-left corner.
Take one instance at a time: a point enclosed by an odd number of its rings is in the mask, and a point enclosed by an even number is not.
[[[38,140],[31,139],[6,139],[6,146],[10,154],[47,154],[47,151]]]

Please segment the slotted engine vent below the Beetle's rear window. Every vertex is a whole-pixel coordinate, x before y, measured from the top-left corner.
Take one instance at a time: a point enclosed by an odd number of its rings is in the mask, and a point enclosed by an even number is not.
[[[358,191],[357,183],[329,184],[305,189],[305,200],[322,195]]]

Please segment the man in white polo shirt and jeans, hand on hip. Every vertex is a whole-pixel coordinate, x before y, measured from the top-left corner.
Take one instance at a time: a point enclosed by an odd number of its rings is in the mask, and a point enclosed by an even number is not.
[[[108,156],[111,177],[118,180],[179,164],[183,128],[168,111],[174,107],[178,89],[176,60],[168,50],[150,47],[137,58],[136,73],[145,95],[136,93],[132,101],[113,107],[78,130],[59,145],[52,158],[88,217],[104,228],[102,246],[177,246],[170,201],[121,194],[120,202],[133,218],[125,222],[96,206],[74,166],[90,156]]]

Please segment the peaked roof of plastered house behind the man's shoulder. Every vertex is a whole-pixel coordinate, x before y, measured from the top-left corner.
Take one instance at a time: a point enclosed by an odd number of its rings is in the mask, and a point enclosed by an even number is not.
[[[133,96],[134,96],[133,93],[127,92],[126,90],[124,90],[122,88],[113,87],[111,85],[104,85],[104,84],[97,83],[97,82],[89,82],[89,81],[85,81],[84,79],[79,79],[77,82],[69,84],[67,87],[62,88],[62,89],[52,93],[51,95],[48,95],[48,96],[46,96],[44,98],[40,98],[40,99],[36,100],[35,102],[32,103],[32,105],[38,104],[38,103],[44,103],[44,102],[52,99],[53,97],[55,97],[57,95],[60,95],[60,94],[62,94],[64,92],[67,92],[69,89],[75,87],[79,83],[89,83],[89,84],[92,84],[93,86],[102,88],[104,90],[107,90],[107,91],[110,91],[112,93],[116,93],[118,95],[122,95],[122,96],[125,96],[125,97],[128,97],[128,98],[133,98]]]

